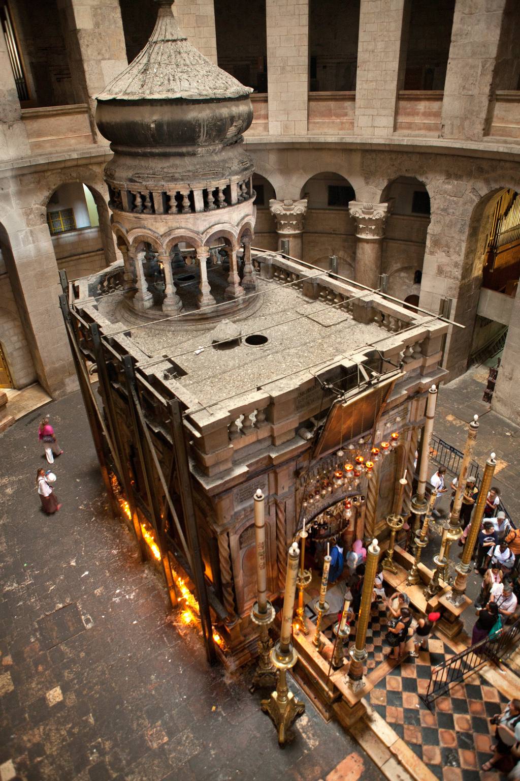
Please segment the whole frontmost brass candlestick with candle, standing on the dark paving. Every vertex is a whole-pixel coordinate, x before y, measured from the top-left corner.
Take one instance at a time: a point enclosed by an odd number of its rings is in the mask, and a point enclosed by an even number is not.
[[[280,746],[285,745],[293,722],[305,711],[305,704],[297,700],[287,686],[287,671],[294,667],[298,661],[296,652],[291,644],[292,612],[295,603],[298,559],[298,545],[293,543],[288,552],[280,640],[278,640],[271,651],[271,662],[278,669],[278,684],[276,690],[271,692],[271,697],[268,700],[262,700],[260,703],[262,711],[270,715],[274,722],[274,726],[278,731],[278,744]]]

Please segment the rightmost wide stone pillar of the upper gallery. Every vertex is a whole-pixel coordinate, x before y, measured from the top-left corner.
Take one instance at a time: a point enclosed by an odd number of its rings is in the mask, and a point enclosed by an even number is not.
[[[455,2],[441,137],[479,141],[485,134],[506,5],[508,0]]]

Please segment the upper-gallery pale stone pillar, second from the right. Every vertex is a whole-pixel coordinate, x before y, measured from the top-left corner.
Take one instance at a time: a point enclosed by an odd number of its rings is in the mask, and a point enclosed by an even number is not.
[[[408,34],[405,0],[361,0],[354,134],[390,136]],[[382,49],[381,49],[382,47]]]

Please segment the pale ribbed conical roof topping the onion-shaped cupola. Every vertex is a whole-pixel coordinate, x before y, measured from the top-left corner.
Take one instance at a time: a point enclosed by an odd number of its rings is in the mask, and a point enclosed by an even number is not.
[[[172,0],[159,0],[147,45],[96,97],[98,101],[204,101],[246,97],[252,91],[200,54],[179,30]]]

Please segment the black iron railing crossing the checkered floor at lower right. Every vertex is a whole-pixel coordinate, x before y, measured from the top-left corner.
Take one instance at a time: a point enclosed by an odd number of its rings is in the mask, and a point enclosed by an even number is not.
[[[432,703],[437,700],[437,697],[447,694],[455,683],[461,683],[486,662],[499,665],[508,651],[515,647],[518,637],[520,637],[520,619],[507,629],[502,629],[493,639],[486,637],[466,648],[465,651],[461,651],[460,654],[451,656],[446,662],[433,667],[426,693],[419,694],[419,697],[430,711],[433,710]]]

